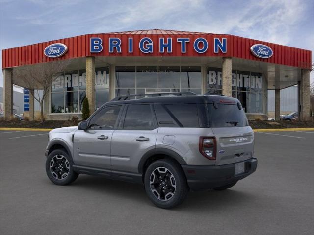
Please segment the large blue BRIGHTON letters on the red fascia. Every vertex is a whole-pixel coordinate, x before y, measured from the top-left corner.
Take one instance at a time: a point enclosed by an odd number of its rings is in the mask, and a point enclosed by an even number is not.
[[[143,53],[153,53],[154,52],[154,42],[151,38],[145,37],[139,40],[138,45],[134,45],[133,38],[128,38],[128,53],[133,53],[133,49],[136,46]],[[177,38],[173,40],[172,38],[159,38],[158,39],[159,53],[172,53],[172,47],[174,44],[178,44],[181,47],[181,53],[187,52],[188,43],[192,43],[194,51],[197,53],[205,53],[209,48],[209,43],[205,38],[196,38],[193,41],[190,38]],[[122,40],[120,38],[109,38],[108,39],[108,52],[109,53],[121,53]],[[101,38],[90,38],[90,52],[99,53],[103,51],[104,44]],[[213,40],[214,53],[227,53],[227,38],[214,38]]]

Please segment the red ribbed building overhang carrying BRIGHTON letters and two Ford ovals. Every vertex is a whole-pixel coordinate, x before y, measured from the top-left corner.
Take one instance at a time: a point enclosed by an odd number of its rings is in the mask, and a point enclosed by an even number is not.
[[[262,45],[261,53],[258,51],[260,46],[256,46],[257,50],[254,52],[253,46],[255,45]],[[59,49],[61,51],[58,51]],[[44,53],[44,51],[46,52]],[[50,51],[52,57],[48,57]],[[58,53],[60,53],[60,57],[55,57],[54,55]],[[256,53],[260,53],[260,56]],[[128,60],[127,58],[130,57],[131,60],[138,62],[141,60],[148,61],[150,57],[159,57],[165,61],[176,60],[175,57],[180,57],[184,61],[184,58],[193,57],[205,62],[221,57],[232,57],[233,59],[252,61],[252,63],[272,64],[275,71],[277,65],[311,69],[312,61],[310,50],[229,34],[155,29],[86,34],[4,49],[2,50],[2,69],[87,56],[112,57],[109,59],[110,61],[117,60],[119,57],[121,60]],[[268,56],[270,57],[266,58]]]

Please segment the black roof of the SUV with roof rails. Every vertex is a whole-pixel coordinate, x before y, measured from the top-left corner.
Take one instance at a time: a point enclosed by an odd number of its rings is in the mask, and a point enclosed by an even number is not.
[[[142,94],[143,95],[143,94]],[[117,98],[105,103],[109,104],[132,104],[132,103],[164,103],[164,104],[197,104],[197,103],[229,103],[237,104],[238,99],[222,96],[222,95],[167,95],[167,96],[152,96],[152,97],[142,97],[137,99],[126,99],[118,100]]]

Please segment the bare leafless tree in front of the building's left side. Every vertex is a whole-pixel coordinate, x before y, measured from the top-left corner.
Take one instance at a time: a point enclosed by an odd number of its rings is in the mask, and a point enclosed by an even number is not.
[[[44,100],[48,96],[52,83],[57,77],[66,70],[70,60],[52,61],[48,63],[39,63],[35,65],[26,65],[13,69],[13,76],[21,80],[25,87],[30,90],[31,95],[40,104],[40,120],[44,122]],[[38,89],[43,90],[40,96]],[[37,95],[35,95],[35,90]]]

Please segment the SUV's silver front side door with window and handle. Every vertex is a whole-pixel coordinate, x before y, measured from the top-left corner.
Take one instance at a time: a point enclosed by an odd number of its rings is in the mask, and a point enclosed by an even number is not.
[[[73,138],[75,164],[111,170],[110,143],[121,110],[121,105],[104,107],[89,120],[86,130],[76,131]]]

